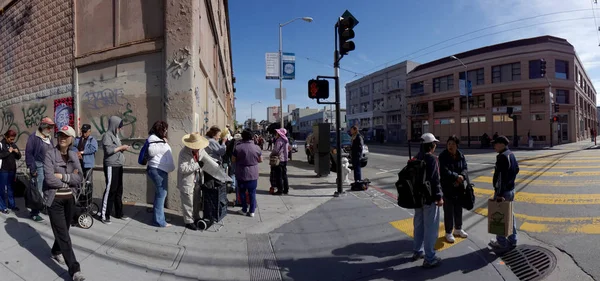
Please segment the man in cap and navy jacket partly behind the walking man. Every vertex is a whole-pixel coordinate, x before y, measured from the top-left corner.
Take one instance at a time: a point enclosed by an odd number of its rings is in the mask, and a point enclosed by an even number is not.
[[[42,118],[40,125],[35,133],[31,134],[25,145],[25,163],[29,169],[29,174],[35,179],[40,196],[43,194],[44,186],[44,156],[46,151],[54,146],[52,133],[54,131],[54,121],[48,117]],[[41,222],[44,219],[40,216],[42,210],[31,210],[29,215],[31,219]]]

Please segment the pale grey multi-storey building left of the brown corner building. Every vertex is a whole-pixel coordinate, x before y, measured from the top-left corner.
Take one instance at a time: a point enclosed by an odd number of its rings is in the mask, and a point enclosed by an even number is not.
[[[417,65],[404,61],[346,84],[349,125],[358,126],[367,140],[405,141],[406,77]]]

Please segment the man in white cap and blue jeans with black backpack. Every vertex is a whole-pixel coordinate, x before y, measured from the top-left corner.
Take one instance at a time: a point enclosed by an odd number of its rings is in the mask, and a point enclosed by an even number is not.
[[[413,219],[415,244],[412,259],[417,261],[424,258],[423,267],[432,268],[442,261],[435,255],[434,246],[440,229],[440,207],[444,205],[444,199],[440,186],[440,164],[433,154],[439,141],[431,133],[423,134],[421,140],[421,151],[416,159],[425,161],[425,181],[431,187],[431,197],[424,198],[423,207],[415,209]]]

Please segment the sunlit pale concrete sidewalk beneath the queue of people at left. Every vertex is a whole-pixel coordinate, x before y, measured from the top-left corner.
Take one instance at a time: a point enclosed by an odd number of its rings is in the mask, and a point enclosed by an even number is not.
[[[190,231],[183,227],[180,214],[167,214],[170,228],[152,227],[148,206],[139,204],[125,207],[130,221],[114,219],[104,225],[96,220],[87,230],[71,228],[86,280],[260,280],[251,276],[251,270],[264,264],[249,266],[249,260],[264,258],[260,256],[264,243],[252,242],[253,234],[269,233],[302,216],[331,199],[335,191],[334,185],[315,186],[327,178],[289,167],[290,194],[273,196],[268,194],[268,163],[261,165],[260,173],[256,216],[241,216],[235,213],[238,207],[230,208],[218,232],[214,226]],[[66,267],[50,259],[54,236],[48,217],[43,216],[42,223],[31,221],[22,198],[17,200],[22,209],[18,214],[0,214],[0,279],[70,280]]]

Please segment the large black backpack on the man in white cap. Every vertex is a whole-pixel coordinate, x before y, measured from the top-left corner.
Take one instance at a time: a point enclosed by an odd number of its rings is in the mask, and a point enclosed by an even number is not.
[[[416,159],[409,161],[398,173],[396,182],[398,206],[405,209],[418,209],[431,198],[431,185],[426,180],[426,170],[425,161]]]

